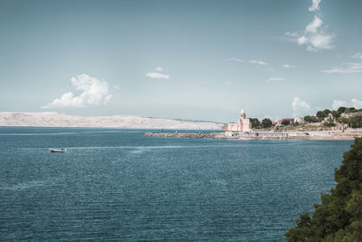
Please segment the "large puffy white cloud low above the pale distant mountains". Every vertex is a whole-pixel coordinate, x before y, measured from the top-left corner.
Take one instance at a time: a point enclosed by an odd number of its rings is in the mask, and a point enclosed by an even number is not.
[[[62,97],[54,99],[41,108],[87,108],[105,105],[110,101],[109,85],[104,80],[98,80],[84,73],[77,77],[72,77],[71,83],[76,90],[81,91],[79,96],[76,96],[73,92],[66,92]]]

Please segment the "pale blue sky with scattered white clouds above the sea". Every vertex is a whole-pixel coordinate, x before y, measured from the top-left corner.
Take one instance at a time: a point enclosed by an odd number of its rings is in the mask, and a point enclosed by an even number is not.
[[[362,108],[360,0],[0,1],[0,111],[273,120]]]

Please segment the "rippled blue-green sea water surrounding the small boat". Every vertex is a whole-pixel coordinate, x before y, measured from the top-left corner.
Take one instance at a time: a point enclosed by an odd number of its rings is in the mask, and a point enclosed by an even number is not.
[[[352,143],[144,132],[0,128],[0,240],[283,241]]]

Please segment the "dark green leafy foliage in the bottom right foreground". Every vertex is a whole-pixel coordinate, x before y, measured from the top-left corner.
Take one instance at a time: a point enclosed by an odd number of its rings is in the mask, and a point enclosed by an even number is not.
[[[335,170],[336,188],[321,195],[315,212],[296,220],[285,236],[288,241],[362,241],[362,138],[356,138],[351,150]]]

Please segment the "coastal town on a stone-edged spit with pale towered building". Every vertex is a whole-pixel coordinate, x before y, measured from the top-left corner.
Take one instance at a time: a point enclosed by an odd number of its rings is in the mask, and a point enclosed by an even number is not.
[[[146,136],[212,139],[272,140],[354,140],[362,137],[362,109],[340,107],[336,111],[317,111],[316,115],[283,118],[246,118],[242,110],[236,122],[226,123],[221,132],[147,132]]]

